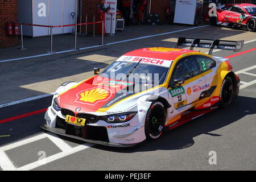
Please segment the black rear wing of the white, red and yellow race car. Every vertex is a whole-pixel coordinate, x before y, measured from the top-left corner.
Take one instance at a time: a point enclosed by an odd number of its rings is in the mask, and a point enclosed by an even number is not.
[[[209,55],[212,55],[214,48],[216,49],[225,49],[229,51],[238,52],[243,48],[244,40],[239,41],[229,41],[229,40],[213,40],[213,39],[200,39],[200,38],[185,38],[181,37],[178,39],[175,48],[180,46],[190,46],[190,49],[193,50],[194,47],[209,48]]]

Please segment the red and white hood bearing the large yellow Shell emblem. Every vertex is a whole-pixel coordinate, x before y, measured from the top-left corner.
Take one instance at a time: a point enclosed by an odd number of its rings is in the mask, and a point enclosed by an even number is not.
[[[131,96],[126,88],[133,85],[133,82],[94,76],[61,93],[57,102],[61,108],[72,111],[80,107],[80,113],[100,111]]]

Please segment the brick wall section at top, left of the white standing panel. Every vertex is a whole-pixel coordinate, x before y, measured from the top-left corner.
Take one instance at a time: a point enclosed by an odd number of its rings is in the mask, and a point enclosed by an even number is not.
[[[159,3],[161,1],[161,3]],[[166,13],[166,7],[170,6],[170,0],[151,0],[152,14],[158,14],[160,16],[160,23],[164,22],[164,16]]]

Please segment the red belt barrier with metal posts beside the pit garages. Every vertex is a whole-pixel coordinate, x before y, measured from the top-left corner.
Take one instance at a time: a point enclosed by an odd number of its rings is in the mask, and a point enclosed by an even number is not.
[[[93,36],[95,35],[95,24],[97,23],[102,23],[101,26],[102,26],[102,32],[101,32],[101,44],[103,45],[104,44],[104,22],[103,21],[98,21],[98,22],[95,22],[95,19],[93,18],[93,22],[90,22],[90,23],[76,23],[76,24],[64,24],[64,25],[59,25],[59,26],[47,26],[47,25],[42,25],[42,24],[31,24],[31,23],[20,23],[20,36],[21,36],[21,50],[24,50],[26,49],[24,46],[23,46],[23,28],[22,26],[23,25],[27,25],[27,26],[37,26],[37,27],[48,27],[48,28],[51,28],[51,42],[50,42],[50,51],[48,53],[54,53],[52,51],[52,48],[53,48],[53,44],[52,44],[52,36],[53,36],[53,32],[52,32],[52,28],[57,28],[57,27],[69,27],[69,26],[75,26],[75,43],[74,43],[74,49],[77,49],[76,48],[76,40],[77,40],[77,26],[82,26],[82,25],[85,25],[86,26],[86,34],[87,34],[87,25],[88,24],[93,24]]]

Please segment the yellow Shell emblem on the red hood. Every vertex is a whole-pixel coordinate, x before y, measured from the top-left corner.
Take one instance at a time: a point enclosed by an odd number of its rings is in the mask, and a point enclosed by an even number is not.
[[[80,93],[80,101],[84,102],[95,102],[97,100],[102,100],[108,97],[108,91],[101,88],[96,88],[92,90],[86,90],[85,92]]]

